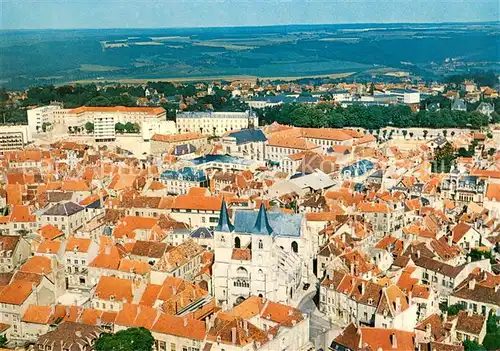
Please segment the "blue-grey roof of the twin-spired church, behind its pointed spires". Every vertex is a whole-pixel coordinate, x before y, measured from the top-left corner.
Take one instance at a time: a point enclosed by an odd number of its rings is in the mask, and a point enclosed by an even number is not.
[[[256,232],[255,229],[259,213],[260,211],[236,210],[234,215],[234,231],[237,233],[262,234],[258,230]],[[300,237],[302,231],[301,214],[267,212],[267,220],[273,235]],[[261,220],[260,223],[262,225],[263,221]]]

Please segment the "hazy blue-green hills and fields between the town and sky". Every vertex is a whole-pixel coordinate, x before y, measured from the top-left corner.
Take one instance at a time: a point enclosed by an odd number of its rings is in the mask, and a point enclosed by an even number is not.
[[[0,84],[498,70],[499,22],[0,32]],[[373,74],[373,73],[368,73]]]

